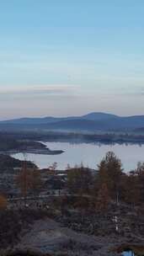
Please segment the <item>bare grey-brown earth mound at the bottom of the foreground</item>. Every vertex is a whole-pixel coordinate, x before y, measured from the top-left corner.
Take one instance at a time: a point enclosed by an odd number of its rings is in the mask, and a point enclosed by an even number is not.
[[[45,218],[35,221],[29,230],[22,232],[20,241],[14,246],[13,251],[61,256],[116,256],[120,253],[116,253],[115,248],[119,248],[122,243],[134,242],[136,243],[136,237],[124,238],[116,234],[104,237],[87,235]]]

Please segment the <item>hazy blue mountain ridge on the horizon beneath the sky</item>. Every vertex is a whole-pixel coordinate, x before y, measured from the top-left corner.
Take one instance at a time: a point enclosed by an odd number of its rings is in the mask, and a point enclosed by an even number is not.
[[[134,131],[144,127],[144,115],[119,116],[93,112],[82,116],[20,118],[0,122],[0,130]]]

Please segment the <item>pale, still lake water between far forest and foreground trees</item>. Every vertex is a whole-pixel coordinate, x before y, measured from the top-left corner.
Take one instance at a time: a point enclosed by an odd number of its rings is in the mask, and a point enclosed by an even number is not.
[[[27,154],[27,160],[33,161],[39,168],[46,168],[54,162],[58,164],[59,169],[67,168],[67,163],[71,167],[75,164],[83,163],[84,166],[89,168],[96,168],[99,161],[108,151],[113,151],[120,157],[125,171],[136,168],[138,161],[144,161],[144,145],[72,144],[69,142],[45,142],[44,144],[51,150],[60,149],[65,152],[61,155]],[[13,157],[24,160],[22,153],[14,154]]]

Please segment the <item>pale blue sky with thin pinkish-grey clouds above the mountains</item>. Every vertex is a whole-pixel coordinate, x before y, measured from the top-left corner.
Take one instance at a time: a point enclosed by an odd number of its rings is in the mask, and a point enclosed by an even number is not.
[[[143,0],[0,0],[0,120],[144,115]]]

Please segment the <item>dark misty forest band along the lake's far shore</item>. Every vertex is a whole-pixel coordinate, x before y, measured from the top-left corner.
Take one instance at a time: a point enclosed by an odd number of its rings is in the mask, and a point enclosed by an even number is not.
[[[59,132],[59,131],[21,131],[21,132],[1,132],[0,138],[7,137],[10,140],[30,140],[30,141],[69,141],[74,143],[80,142],[98,142],[103,144],[114,143],[144,143],[144,135],[135,133],[74,133],[74,132]]]

